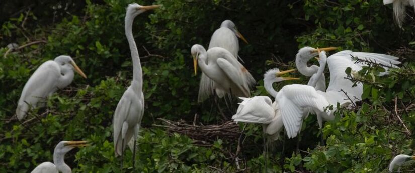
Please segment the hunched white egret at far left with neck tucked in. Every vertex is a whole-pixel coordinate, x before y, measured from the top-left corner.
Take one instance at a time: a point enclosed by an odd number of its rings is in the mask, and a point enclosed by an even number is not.
[[[40,65],[23,87],[16,108],[19,121],[26,117],[31,107],[42,107],[46,97],[72,83],[73,70],[87,78],[72,58],[67,55],[58,56],[53,61],[49,60]]]

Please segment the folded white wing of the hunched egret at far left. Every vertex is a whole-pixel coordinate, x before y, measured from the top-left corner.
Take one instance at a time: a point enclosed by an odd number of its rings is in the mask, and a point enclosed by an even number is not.
[[[16,109],[16,115],[19,120],[25,118],[30,107],[36,107],[39,101],[58,89],[57,82],[59,77],[60,68],[54,61],[46,61],[36,69],[26,82],[20,96]]]

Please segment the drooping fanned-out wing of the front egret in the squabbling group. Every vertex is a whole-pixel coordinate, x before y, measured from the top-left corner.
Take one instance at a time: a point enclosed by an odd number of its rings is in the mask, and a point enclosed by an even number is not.
[[[324,109],[330,105],[313,87],[300,84],[284,86],[278,92],[275,101],[281,110],[288,138],[297,136],[304,118],[304,108],[311,107],[314,111],[324,112]],[[327,112],[331,113],[329,110]]]

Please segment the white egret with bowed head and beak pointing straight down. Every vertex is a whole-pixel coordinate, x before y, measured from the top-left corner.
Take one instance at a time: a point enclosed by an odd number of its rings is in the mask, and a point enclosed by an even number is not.
[[[255,79],[250,72],[240,64],[236,58],[226,49],[220,47],[210,48],[208,51],[201,45],[193,45],[191,48],[195,75],[197,65],[212,81],[212,91],[219,98],[225,94],[241,97],[249,97],[250,86]]]

